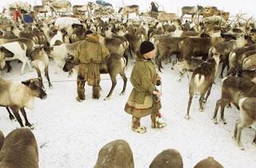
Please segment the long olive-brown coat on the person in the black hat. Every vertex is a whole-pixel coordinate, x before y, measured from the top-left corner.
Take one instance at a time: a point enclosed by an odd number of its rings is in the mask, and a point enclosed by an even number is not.
[[[154,99],[158,74],[153,61],[139,58],[131,72],[130,82],[133,90],[126,103],[125,111],[135,117],[143,117],[161,108],[159,100]]]

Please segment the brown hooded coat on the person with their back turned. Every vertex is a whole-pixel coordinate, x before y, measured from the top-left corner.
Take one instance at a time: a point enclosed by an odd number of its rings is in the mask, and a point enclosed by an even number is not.
[[[87,35],[77,48],[74,61],[79,64],[78,77],[88,81],[90,86],[96,86],[100,81],[99,65],[110,57],[110,52],[105,45],[99,43],[96,33]]]

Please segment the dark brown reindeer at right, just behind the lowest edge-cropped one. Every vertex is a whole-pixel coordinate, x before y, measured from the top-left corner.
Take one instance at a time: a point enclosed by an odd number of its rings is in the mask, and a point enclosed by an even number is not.
[[[224,119],[226,105],[232,103],[239,109],[238,101],[243,97],[256,97],[256,84],[249,79],[237,76],[226,77],[222,82],[222,96],[216,102],[213,116],[214,123],[218,123],[218,108],[221,107],[220,121],[226,124],[226,119]]]

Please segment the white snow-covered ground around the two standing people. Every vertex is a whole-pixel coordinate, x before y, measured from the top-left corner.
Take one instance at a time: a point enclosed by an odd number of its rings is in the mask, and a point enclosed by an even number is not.
[[[19,75],[22,64],[12,63],[13,71],[2,78],[26,80],[36,76],[26,68],[24,76]],[[126,76],[130,77],[133,62],[127,67]],[[58,70],[58,74],[54,73]],[[220,97],[221,79],[216,79],[204,112],[198,111],[198,98],[191,105],[191,119],[184,119],[188,101],[188,80],[178,83],[178,74],[165,65],[162,76],[162,115],[167,127],[152,129],[150,117],[142,118],[147,132],[140,135],[131,131],[131,116],[123,111],[132,86],[127,84],[126,94],[119,96],[122,80],[114,89],[111,100],[104,101],[110,89],[108,75],[102,75],[102,97],[93,100],[92,89],[86,86],[86,101],[75,100],[76,75],[67,77],[66,72],[50,62],[50,79],[54,88],[46,87],[46,100],[36,100],[34,110],[26,110],[30,123],[34,123],[34,135],[38,142],[39,162],[43,168],[94,167],[98,151],[114,139],[124,139],[134,153],[136,168],[149,167],[153,158],[162,150],[174,148],[182,154],[185,168],[194,166],[208,156],[213,156],[227,168],[254,168],[256,150],[252,143],[255,131],[246,128],[242,132],[242,143],[246,150],[239,150],[231,138],[238,111],[226,108],[227,124],[215,125],[211,121],[215,102]],[[118,76],[120,77],[120,76]],[[44,79],[46,80],[46,79]],[[47,86],[47,84],[45,84]],[[5,135],[19,127],[17,121],[10,121],[5,108],[0,112],[0,129]]]

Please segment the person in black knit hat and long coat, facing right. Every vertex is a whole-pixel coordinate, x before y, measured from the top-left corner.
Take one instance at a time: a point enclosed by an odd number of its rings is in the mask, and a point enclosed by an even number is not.
[[[162,107],[159,99],[162,92],[156,88],[156,85],[161,84],[161,78],[158,76],[153,58],[153,43],[143,41],[130,76],[134,88],[125,107],[126,113],[132,115],[132,131],[141,134],[146,132],[146,127],[140,126],[140,119],[146,115],[150,115],[151,127],[166,127],[159,112]]]

